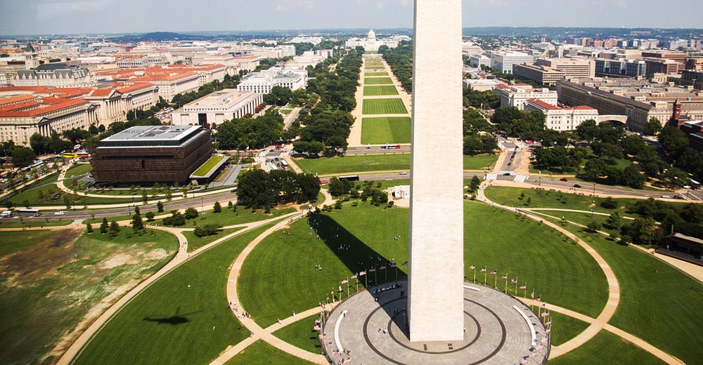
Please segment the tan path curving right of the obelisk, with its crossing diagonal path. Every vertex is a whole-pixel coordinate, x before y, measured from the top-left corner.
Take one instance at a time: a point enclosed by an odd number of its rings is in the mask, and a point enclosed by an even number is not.
[[[603,274],[605,274],[605,279],[608,282],[607,303],[605,303],[605,307],[603,307],[603,310],[600,312],[600,314],[598,314],[598,317],[596,317],[595,319],[590,319],[590,317],[584,316],[583,314],[578,314],[576,312],[565,310],[564,308],[550,305],[550,308],[555,310],[555,312],[567,314],[571,317],[581,319],[582,321],[586,321],[590,324],[583,332],[579,333],[578,336],[572,338],[566,343],[562,343],[562,345],[553,346],[550,352],[550,359],[560,357],[562,354],[566,354],[567,352],[572,351],[577,347],[580,347],[581,345],[588,342],[588,340],[591,340],[591,338],[595,337],[602,329],[606,329],[607,331],[615,333],[618,336],[629,340],[631,343],[634,343],[638,347],[641,347],[643,350],[650,352],[659,359],[662,359],[662,361],[666,362],[666,364],[683,364],[683,361],[681,361],[680,359],[677,359],[676,357],[671,356],[671,354],[667,354],[666,352],[659,350],[657,347],[650,345],[650,343],[647,343],[645,340],[642,340],[636,336],[633,336],[629,333],[626,333],[625,331],[622,331],[608,324],[608,321],[612,319],[613,315],[615,314],[615,310],[617,310],[617,306],[620,303],[620,285],[618,284],[617,277],[615,277],[615,274],[610,268],[610,265],[607,264],[605,259],[603,259],[602,256],[597,251],[595,251],[595,249],[586,244],[585,241],[579,239],[579,237],[576,237],[576,235],[572,234],[572,232],[569,232],[568,230],[565,230],[565,228],[560,227],[559,225],[555,225],[554,223],[551,223],[548,220],[543,220],[539,216],[531,213],[530,211],[520,208],[516,209],[509,206],[503,206],[501,204],[496,204],[494,201],[489,200],[484,194],[484,188],[486,187],[486,185],[488,185],[488,183],[484,182],[479,188],[479,192],[477,194],[477,199],[479,201],[484,201],[485,203],[491,204],[492,206],[496,206],[498,208],[503,208],[509,211],[515,211],[516,213],[522,213],[528,218],[531,218],[532,220],[541,221],[544,225],[553,228],[557,232],[565,234],[565,236],[569,237],[569,239],[572,239],[577,244],[579,244],[579,246],[581,246],[584,250],[586,250],[586,252],[591,255],[593,260],[595,260],[595,262],[600,265]],[[529,302],[533,304],[537,303],[533,300],[529,300]]]

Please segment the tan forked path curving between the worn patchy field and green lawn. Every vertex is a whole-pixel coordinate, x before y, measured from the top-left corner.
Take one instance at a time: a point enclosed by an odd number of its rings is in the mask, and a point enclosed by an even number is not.
[[[261,227],[262,225],[266,225],[272,222],[275,222],[276,220],[281,220],[285,218],[290,218],[290,216],[297,214],[295,213],[288,213],[285,215],[280,215],[276,218],[270,218],[267,220],[260,220],[258,222],[253,222],[253,223],[248,223],[247,226],[243,230],[238,230],[237,232],[233,232],[231,234],[228,234],[224,237],[221,237],[220,239],[217,239],[215,241],[212,241],[211,243],[202,246],[201,248],[198,248],[198,250],[195,250],[191,253],[188,253],[188,241],[185,236],[181,233],[182,230],[177,229],[177,228],[169,228],[169,227],[156,227],[156,226],[147,226],[150,229],[153,230],[162,230],[165,232],[169,232],[171,234],[174,234],[176,237],[179,239],[179,250],[176,252],[176,255],[174,258],[169,261],[164,267],[162,267],[159,271],[157,271],[155,274],[152,276],[148,277],[141,283],[139,283],[137,286],[135,286],[131,291],[129,291],[127,294],[122,296],[120,300],[117,300],[115,304],[111,305],[108,310],[103,312],[103,314],[100,315],[95,321],[93,321],[88,328],[75,340],[74,343],[64,352],[64,354],[61,356],[61,358],[58,360],[56,364],[58,365],[66,365],[70,364],[72,359],[77,357],[77,355],[80,353],[82,348],[87,345],[91,338],[100,331],[100,329],[112,318],[112,316],[117,313],[124,305],[127,305],[134,297],[136,297],[141,291],[144,289],[148,288],[153,282],[155,282],[157,279],[160,277],[164,276],[171,270],[174,270],[176,267],[179,267],[183,263],[185,263],[188,260],[191,260],[191,258],[194,258],[198,254],[202,253],[203,251],[207,251],[209,248],[212,248],[212,246],[215,246],[217,244],[220,244],[221,242],[224,242],[228,239],[231,239],[232,237],[236,237],[240,234],[243,234],[244,232],[248,232],[250,230],[253,230],[254,228]]]

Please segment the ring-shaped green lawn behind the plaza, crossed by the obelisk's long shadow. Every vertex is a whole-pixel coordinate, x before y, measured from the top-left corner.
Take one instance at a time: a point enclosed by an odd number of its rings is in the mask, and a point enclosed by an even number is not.
[[[501,274],[518,277],[521,285],[527,281],[548,303],[594,317],[600,312],[607,299],[605,277],[580,246],[543,225],[516,219],[510,212],[469,201],[465,207],[465,271],[469,280],[472,263],[487,265],[489,270],[499,269]],[[380,266],[386,260],[403,263],[408,258],[406,209],[377,208],[366,203],[346,205],[341,211],[319,215],[312,225],[317,233],[309,223],[299,221],[287,230],[290,236],[273,234],[264,239],[243,265],[238,284],[240,300],[262,326],[315,307],[340,280],[355,272]],[[480,230],[469,228],[479,225]],[[316,238],[318,234],[321,239]],[[394,236],[401,240],[394,240]],[[512,237],[530,239],[527,242]],[[340,250],[340,245],[349,245],[349,249]],[[525,264],[526,258],[529,265]],[[386,275],[392,280],[395,270],[377,271],[366,279],[369,284],[385,281]],[[406,267],[399,265],[397,270],[403,277]],[[482,282],[483,275],[477,272],[477,279]],[[350,282],[354,293],[356,281]],[[359,284],[361,289],[364,279]]]

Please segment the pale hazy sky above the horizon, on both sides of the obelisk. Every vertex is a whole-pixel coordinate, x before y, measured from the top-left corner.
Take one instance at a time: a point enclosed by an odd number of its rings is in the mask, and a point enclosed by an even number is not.
[[[703,0],[462,5],[464,27],[703,28]],[[413,0],[0,0],[0,14],[4,35],[394,28],[413,26]]]

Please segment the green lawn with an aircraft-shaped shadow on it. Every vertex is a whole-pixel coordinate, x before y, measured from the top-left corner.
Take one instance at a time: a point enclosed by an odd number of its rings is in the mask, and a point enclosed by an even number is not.
[[[105,324],[75,364],[209,364],[249,336],[227,307],[227,275],[265,229],[223,242],[155,281]]]

